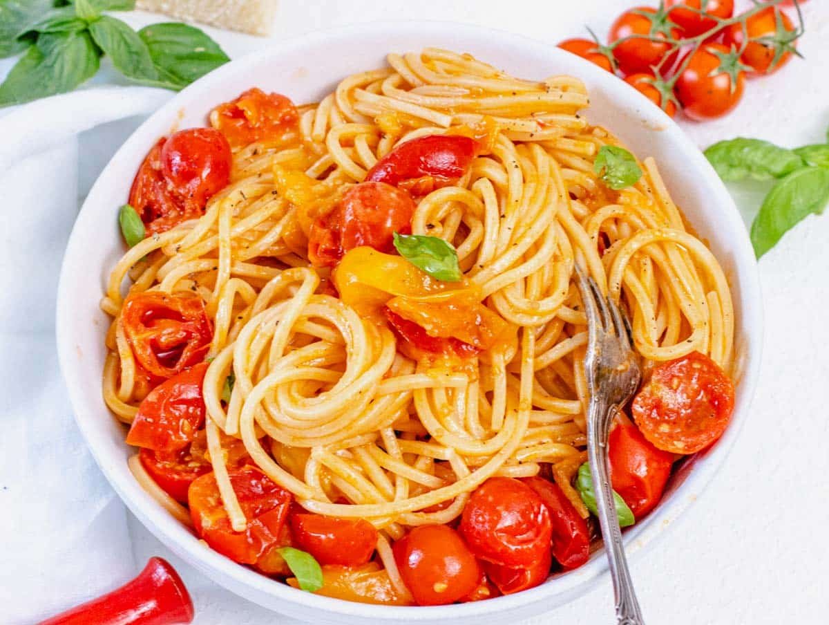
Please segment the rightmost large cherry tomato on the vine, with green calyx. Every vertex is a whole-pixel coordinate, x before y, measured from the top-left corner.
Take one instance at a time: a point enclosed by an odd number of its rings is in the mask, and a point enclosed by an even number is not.
[[[768,7],[749,17],[745,27],[749,43],[744,50],[745,35],[741,24],[732,24],[725,30],[724,43],[733,46],[734,50],[743,50],[740,61],[751,67],[753,74],[772,74],[791,60],[796,29],[786,13],[777,7]],[[767,41],[756,41],[760,39]],[[778,61],[772,65],[778,53]]]

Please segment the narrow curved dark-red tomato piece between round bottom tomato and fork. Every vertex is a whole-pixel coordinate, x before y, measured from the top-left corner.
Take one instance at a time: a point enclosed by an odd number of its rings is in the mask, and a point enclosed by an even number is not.
[[[561,564],[561,568],[577,569],[587,562],[590,557],[590,532],[587,529],[587,521],[579,516],[560,487],[543,477],[526,477],[522,481],[536,491],[547,506],[553,530],[552,553]]]

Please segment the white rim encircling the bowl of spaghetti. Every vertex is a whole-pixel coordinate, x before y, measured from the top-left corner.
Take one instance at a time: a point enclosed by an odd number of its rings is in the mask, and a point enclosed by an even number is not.
[[[671,142],[676,145],[677,152],[681,154],[683,159],[686,159],[688,167],[695,173],[699,173],[702,178],[701,183],[704,183],[706,188],[710,188],[713,193],[712,201],[724,209],[721,217],[722,221],[734,232],[745,232],[742,219],[739,217],[739,212],[734,206],[734,201],[727,192],[725,185],[720,181],[713,168],[710,167],[701,151],[691,142],[691,139],[662,110],[657,110],[656,107],[649,104],[647,98],[638,93],[633,87],[594,66],[589,61],[574,59],[569,52],[555,48],[549,43],[511,32],[455,22],[437,21],[368,22],[308,32],[230,61],[173,96],[171,100],[148,117],[138,129],[133,131],[128,139],[124,141],[124,144],[119,147],[113,158],[100,173],[80,210],[61,266],[56,305],[58,356],[73,414],[75,415],[75,422],[77,422],[87,446],[90,448],[90,452],[95,457],[95,461],[103,471],[104,476],[129,510],[138,517],[138,520],[141,520],[142,524],[153,535],[172,549],[175,554],[185,559],[188,564],[195,566],[196,569],[199,569],[221,586],[229,588],[232,592],[241,594],[255,603],[267,605],[269,608],[273,608],[275,602],[270,602],[269,605],[268,603],[262,603],[259,598],[267,595],[280,602],[287,602],[308,611],[326,613],[329,618],[344,615],[356,618],[385,619],[387,622],[413,623],[434,622],[436,619],[448,621],[458,618],[492,617],[493,613],[503,613],[533,603],[541,603],[545,600],[549,608],[553,608],[584,593],[591,584],[596,583],[598,579],[602,579],[608,574],[608,564],[603,555],[604,549],[599,549],[591,554],[589,562],[581,568],[554,576],[552,579],[555,579],[555,583],[549,583],[548,581],[521,593],[473,603],[434,607],[381,606],[352,603],[341,599],[305,593],[291,588],[287,584],[269,579],[252,569],[235,564],[230,559],[201,544],[187,528],[174,520],[172,515],[167,513],[167,510],[164,510],[162,506],[148,496],[128,471],[124,474],[124,471],[117,471],[114,468],[113,458],[104,449],[104,444],[97,440],[98,437],[93,432],[90,418],[86,416],[87,413],[94,411],[87,408],[89,398],[82,392],[79,383],[80,372],[75,370],[76,348],[72,334],[72,322],[70,321],[72,309],[69,304],[73,288],[73,275],[78,271],[78,267],[74,266],[78,264],[78,261],[74,259],[83,256],[84,251],[84,242],[82,241],[84,228],[82,227],[83,220],[81,217],[85,212],[89,212],[87,207],[96,203],[95,198],[99,194],[102,180],[107,177],[107,172],[112,168],[112,164],[119,159],[126,158],[125,155],[133,151],[134,146],[143,139],[143,134],[148,132],[148,126],[153,125],[153,121],[159,118],[174,116],[175,111],[191,101],[193,95],[206,90],[210,85],[226,81],[240,68],[255,65],[262,62],[264,58],[273,58],[285,51],[301,51],[303,47],[325,42],[347,42],[366,34],[382,34],[389,37],[390,42],[394,41],[395,33],[418,35],[422,36],[424,40],[451,42],[452,37],[457,35],[458,32],[462,32],[468,37],[478,37],[486,41],[492,41],[494,38],[498,43],[518,46],[526,51],[534,50],[541,53],[543,48],[543,54],[550,56],[550,58],[559,56],[564,59],[565,56],[561,55],[566,55],[568,63],[573,64],[575,62],[580,66],[579,76],[583,74],[589,76],[591,81],[604,83],[604,90],[613,92],[614,96],[618,96],[620,107],[638,110],[638,115],[649,119],[652,125],[659,127],[662,132],[668,133]],[[483,60],[487,61],[487,59]],[[625,532],[623,540],[628,556],[632,556],[640,552],[646,545],[652,544],[654,539],[663,534],[662,530],[668,525],[673,525],[673,521],[705,491],[705,486],[710,482],[720,464],[730,452],[730,448],[748,416],[762,356],[762,300],[757,264],[754,260],[754,252],[750,246],[747,232],[733,242],[732,251],[736,259],[734,273],[739,274],[740,300],[744,302],[739,328],[751,344],[749,354],[746,354],[745,366],[739,382],[739,390],[743,401],[736,407],[730,427],[728,427],[723,437],[714,447],[705,452],[704,461],[695,462],[699,466],[695,466],[686,480],[676,488],[676,492],[668,500],[657,506],[657,509],[646,519]],[[95,399],[99,401],[99,397]]]

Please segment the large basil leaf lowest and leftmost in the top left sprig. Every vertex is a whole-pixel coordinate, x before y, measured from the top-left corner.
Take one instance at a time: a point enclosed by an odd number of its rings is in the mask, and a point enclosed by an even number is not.
[[[95,76],[99,55],[88,32],[42,34],[0,85],[0,106],[75,89]]]

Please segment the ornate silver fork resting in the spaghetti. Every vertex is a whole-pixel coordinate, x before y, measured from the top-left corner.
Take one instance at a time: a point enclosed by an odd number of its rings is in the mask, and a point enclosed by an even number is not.
[[[590,393],[587,412],[587,451],[599,511],[599,525],[608,554],[616,618],[619,625],[643,625],[642,612],[628,571],[619,529],[613,488],[610,486],[608,436],[613,417],[633,396],[642,374],[631,345],[628,318],[618,305],[602,295],[593,278],[577,264],[579,290],[587,315],[588,344],[584,372]]]

